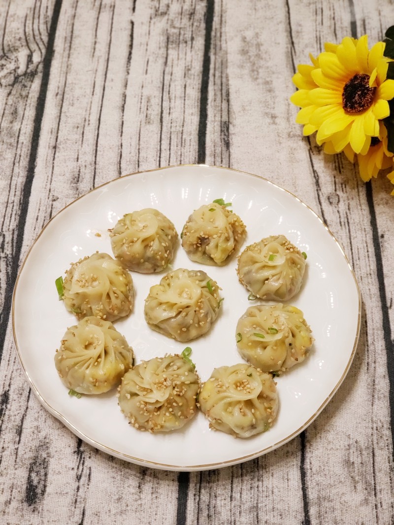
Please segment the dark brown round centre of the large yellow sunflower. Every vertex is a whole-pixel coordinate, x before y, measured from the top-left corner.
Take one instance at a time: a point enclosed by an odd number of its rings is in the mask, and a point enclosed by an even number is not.
[[[374,102],[376,88],[369,87],[369,75],[358,73],[344,86],[342,91],[342,106],[346,113],[354,115],[362,113]]]

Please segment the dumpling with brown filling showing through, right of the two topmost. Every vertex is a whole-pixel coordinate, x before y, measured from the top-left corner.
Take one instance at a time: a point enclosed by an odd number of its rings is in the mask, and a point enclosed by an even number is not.
[[[182,232],[182,246],[189,259],[223,266],[242,245],[246,228],[238,215],[217,203],[205,204],[189,217]]]

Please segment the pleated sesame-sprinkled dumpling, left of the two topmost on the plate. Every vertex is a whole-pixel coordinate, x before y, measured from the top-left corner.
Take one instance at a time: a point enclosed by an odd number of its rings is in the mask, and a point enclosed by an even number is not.
[[[123,266],[152,274],[172,261],[178,233],[165,215],[146,208],[119,219],[110,237],[113,255]]]

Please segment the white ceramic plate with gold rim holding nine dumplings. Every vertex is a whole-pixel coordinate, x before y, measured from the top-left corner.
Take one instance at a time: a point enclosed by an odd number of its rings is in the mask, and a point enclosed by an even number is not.
[[[244,246],[284,234],[308,255],[301,291],[290,302],[303,310],[316,339],[308,358],[277,379],[280,408],[274,426],[250,439],[210,430],[202,413],[179,432],[149,434],[128,425],[116,390],[102,396],[70,397],[54,365],[66,328],[76,323],[58,300],[55,279],[70,262],[96,250],[112,255],[108,228],[123,214],[153,207],[178,233],[193,209],[223,197],[247,227]],[[95,235],[100,233],[101,237]],[[172,265],[202,268],[178,247]],[[143,318],[149,288],[163,274],[132,273],[134,311],[117,321],[137,362],[193,349],[202,381],[214,367],[243,362],[236,350],[236,322],[251,306],[236,276],[236,260],[203,269],[222,287],[223,309],[206,337],[184,344],[150,330]],[[353,359],[361,303],[349,262],[317,215],[292,194],[261,177],[209,166],[174,166],[124,176],[80,197],[43,229],[24,262],[13,297],[14,339],[20,362],[39,401],[72,432],[109,454],[139,465],[169,470],[203,470],[241,463],[267,453],[299,434],[327,405]]]

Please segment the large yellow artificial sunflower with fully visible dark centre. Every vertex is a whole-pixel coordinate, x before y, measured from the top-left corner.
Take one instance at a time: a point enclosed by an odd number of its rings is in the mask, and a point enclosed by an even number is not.
[[[304,134],[317,131],[319,145],[331,142],[335,152],[350,148],[366,155],[371,137],[379,135],[379,120],[388,117],[394,80],[388,80],[385,43],[368,50],[368,36],[345,37],[326,44],[312,66],[301,65],[293,81],[299,88],[291,100],[302,108],[297,122]]]

